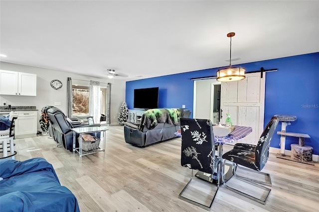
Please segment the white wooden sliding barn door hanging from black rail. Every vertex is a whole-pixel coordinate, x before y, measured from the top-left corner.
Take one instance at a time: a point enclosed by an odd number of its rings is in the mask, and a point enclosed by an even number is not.
[[[253,128],[249,135],[235,143],[256,145],[264,130],[265,82],[264,72],[263,78],[260,73],[247,73],[244,80],[221,83],[221,123],[225,123],[226,113],[230,113],[233,125]]]

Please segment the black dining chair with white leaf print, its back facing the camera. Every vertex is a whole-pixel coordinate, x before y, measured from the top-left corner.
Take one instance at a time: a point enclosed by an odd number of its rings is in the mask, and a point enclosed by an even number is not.
[[[178,198],[206,210],[210,210],[218,191],[219,178],[217,186],[197,178],[196,180],[198,181],[196,182],[195,179],[193,179],[193,170],[213,175],[217,169],[217,176],[220,175],[221,160],[215,156],[212,123],[208,119],[180,118],[180,128],[181,166],[191,169],[192,175]],[[201,191],[201,189],[196,190],[196,188],[192,186],[192,180],[195,181],[193,184],[197,186],[201,185],[202,188],[207,188],[209,192],[213,191],[210,197],[205,197],[205,200],[200,200],[202,196],[200,196],[199,193],[203,191]],[[191,193],[187,194],[189,190]],[[196,196],[200,196],[200,198]]]

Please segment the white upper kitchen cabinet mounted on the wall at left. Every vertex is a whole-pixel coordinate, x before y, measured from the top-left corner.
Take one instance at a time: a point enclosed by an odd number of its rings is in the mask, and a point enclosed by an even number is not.
[[[36,96],[36,75],[0,70],[0,95]]]

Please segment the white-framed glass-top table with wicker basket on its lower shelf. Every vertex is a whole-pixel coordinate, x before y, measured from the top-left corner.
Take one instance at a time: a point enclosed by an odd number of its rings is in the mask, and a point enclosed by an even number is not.
[[[89,155],[93,154],[96,152],[103,152],[103,158],[105,157],[105,132],[106,130],[109,130],[106,126],[86,126],[86,127],[77,127],[77,128],[72,128],[73,131],[73,156],[75,156],[75,152],[79,153],[79,162],[82,163],[82,156],[84,155]],[[97,135],[98,132],[101,132],[101,136],[103,134],[103,141],[102,141],[102,149],[101,148],[96,148],[93,150],[89,151],[84,151],[83,150],[83,134],[89,134],[89,133],[95,133],[95,136]],[[79,133],[79,147],[75,147],[76,143],[76,133]]]

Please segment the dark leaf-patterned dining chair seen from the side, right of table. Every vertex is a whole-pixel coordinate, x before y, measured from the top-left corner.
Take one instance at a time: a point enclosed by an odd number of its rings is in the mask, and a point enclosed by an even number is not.
[[[258,199],[258,198],[252,197],[252,196],[250,196],[242,191],[239,191],[239,190],[236,190],[236,189],[233,189],[233,188],[227,186],[226,183],[223,182],[224,185],[226,186],[226,188],[228,188],[236,193],[239,193],[241,195],[244,195],[245,197],[248,197],[248,198],[255,200],[259,203],[266,204],[267,198],[268,198],[271,190],[266,188],[266,187],[263,187],[263,186],[260,186],[258,184],[253,183],[253,182],[263,183],[261,181],[252,180],[249,178],[249,176],[243,177],[243,176],[236,175],[236,169],[237,169],[237,165],[239,164],[239,165],[242,165],[244,167],[251,169],[251,171],[255,170],[258,173],[260,173],[260,171],[264,168],[264,166],[268,160],[270,141],[271,141],[271,138],[272,138],[272,136],[275,132],[275,129],[278,125],[278,122],[279,122],[278,117],[274,116],[271,118],[271,120],[269,121],[269,123],[265,127],[263,133],[261,134],[257,145],[237,144],[234,146],[234,148],[232,150],[226,152],[222,156],[223,159],[226,159],[226,160],[234,163],[233,174],[235,177],[239,178],[240,180],[244,180],[244,181],[252,184],[253,186],[264,189],[268,193],[266,195],[266,197],[264,199]],[[269,177],[269,182],[270,182],[269,185],[271,186],[270,176],[266,173],[262,173],[262,174],[265,174]]]

